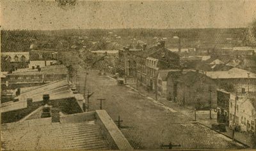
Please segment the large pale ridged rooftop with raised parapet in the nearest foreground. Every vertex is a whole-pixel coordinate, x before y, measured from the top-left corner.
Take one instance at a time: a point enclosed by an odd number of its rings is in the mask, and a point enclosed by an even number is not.
[[[6,150],[133,149],[105,110],[2,124]]]

